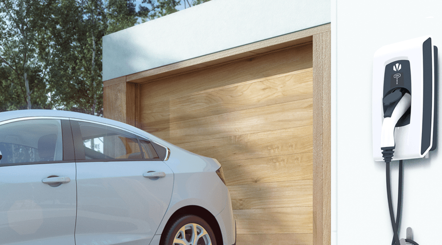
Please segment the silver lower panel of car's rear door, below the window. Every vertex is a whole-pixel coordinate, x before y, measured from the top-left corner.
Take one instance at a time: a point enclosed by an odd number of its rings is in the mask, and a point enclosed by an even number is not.
[[[164,172],[149,179],[143,173]],[[77,162],[77,245],[146,245],[172,196],[173,172],[162,161]]]

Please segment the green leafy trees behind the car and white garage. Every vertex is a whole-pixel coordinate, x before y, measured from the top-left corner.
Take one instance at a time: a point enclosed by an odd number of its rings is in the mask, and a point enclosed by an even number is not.
[[[137,10],[135,0],[0,0],[0,111],[102,116],[102,37],[174,13],[180,3],[142,0]]]

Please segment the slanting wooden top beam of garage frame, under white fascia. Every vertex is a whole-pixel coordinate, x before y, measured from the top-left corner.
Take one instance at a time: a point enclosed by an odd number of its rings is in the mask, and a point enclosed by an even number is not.
[[[228,49],[213,54],[196,57],[190,60],[170,64],[155,69],[127,75],[127,81],[134,83],[145,83],[154,79],[172,76],[179,73],[186,73],[195,69],[207,68],[210,66],[231,62],[253,54],[261,54],[277,49],[295,46],[312,41],[312,35],[330,30],[330,24],[320,25],[313,28],[297,31],[287,35],[263,40],[238,48]]]

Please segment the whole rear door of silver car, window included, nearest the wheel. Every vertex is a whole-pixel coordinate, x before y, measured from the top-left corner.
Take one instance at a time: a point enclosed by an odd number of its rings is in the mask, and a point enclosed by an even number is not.
[[[149,244],[169,205],[172,171],[130,132],[71,122],[78,159],[77,245]]]

